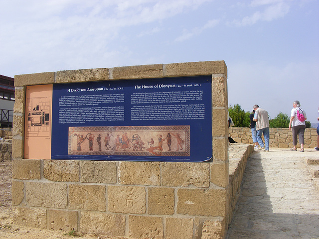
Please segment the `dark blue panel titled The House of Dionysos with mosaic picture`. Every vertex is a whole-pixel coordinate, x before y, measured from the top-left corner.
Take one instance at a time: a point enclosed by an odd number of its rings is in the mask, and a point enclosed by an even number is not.
[[[52,159],[212,157],[211,76],[53,85]]]

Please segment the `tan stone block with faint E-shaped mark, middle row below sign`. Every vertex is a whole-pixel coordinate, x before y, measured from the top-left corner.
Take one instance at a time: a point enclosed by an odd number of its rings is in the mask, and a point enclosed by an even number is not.
[[[146,212],[145,188],[108,186],[108,208],[113,213],[144,214]]]

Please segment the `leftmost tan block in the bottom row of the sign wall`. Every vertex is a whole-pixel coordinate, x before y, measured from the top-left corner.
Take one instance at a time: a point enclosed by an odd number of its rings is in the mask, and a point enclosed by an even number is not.
[[[45,209],[13,207],[12,215],[13,224],[32,228],[46,228]]]

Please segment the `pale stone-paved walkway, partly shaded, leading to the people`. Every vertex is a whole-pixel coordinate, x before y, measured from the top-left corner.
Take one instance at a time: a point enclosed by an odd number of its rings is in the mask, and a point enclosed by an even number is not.
[[[271,148],[248,159],[227,239],[319,239],[319,191],[305,153]]]

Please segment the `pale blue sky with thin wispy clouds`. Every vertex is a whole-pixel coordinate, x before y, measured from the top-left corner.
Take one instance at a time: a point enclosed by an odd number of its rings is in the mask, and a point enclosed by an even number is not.
[[[317,123],[319,0],[0,0],[0,74],[224,60],[228,105]]]

